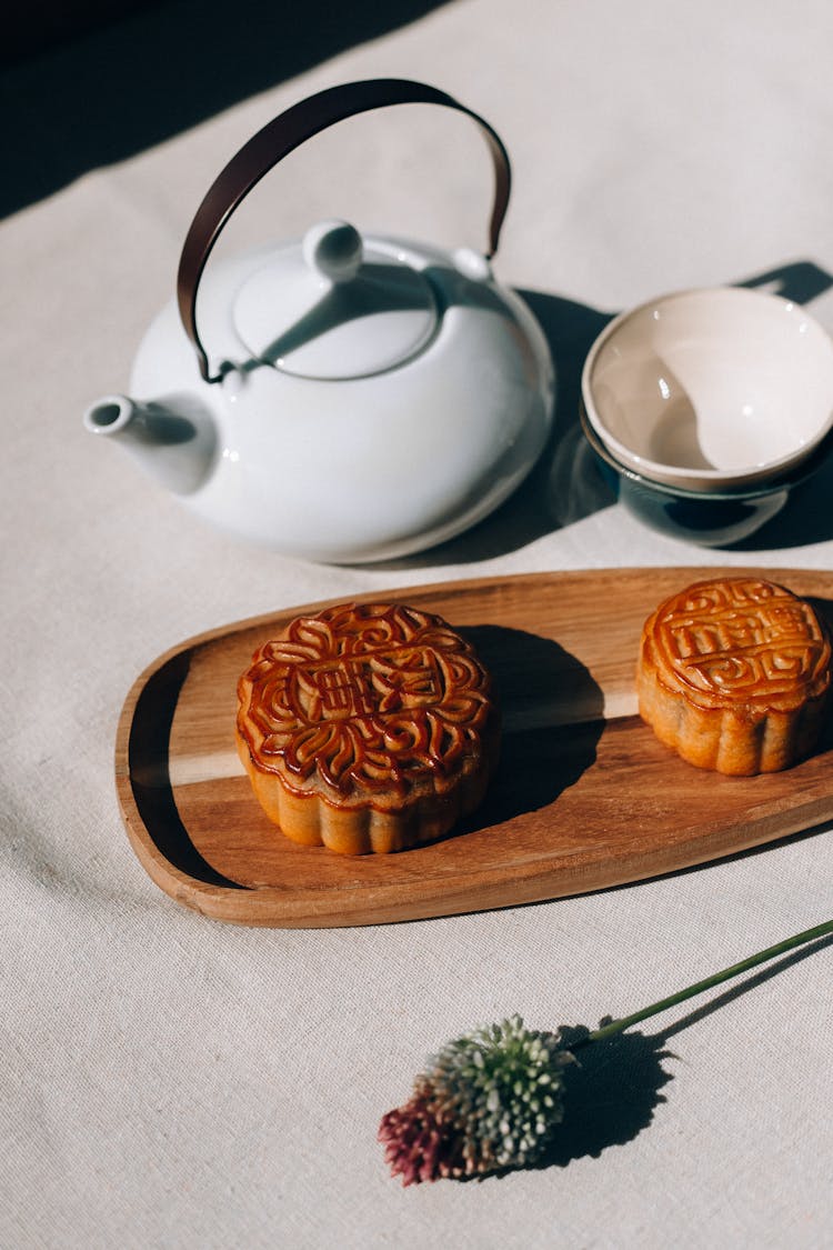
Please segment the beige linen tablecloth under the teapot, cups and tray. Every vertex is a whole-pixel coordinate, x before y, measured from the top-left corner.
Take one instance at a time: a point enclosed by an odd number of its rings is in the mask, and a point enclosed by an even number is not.
[[[832,1246],[829,946],[652,1021],[607,1069],[588,1060],[545,1169],[402,1189],[375,1140],[425,1056],[476,1025],[592,1026],[828,919],[827,829],[607,892],[320,931],[201,918],[129,846],[120,708],[191,635],[470,576],[833,559],[831,472],[744,549],[704,552],[606,494],[574,418],[604,319],[659,291],[766,285],[833,329],[829,5],[452,0],[385,29],[330,8],[311,9],[320,42],[288,9],[195,6],[189,34],[190,10],[156,8],[6,74],[0,1244]],[[496,268],[552,336],[559,425],[477,530],[396,565],[316,566],[206,528],[81,412],[127,386],[236,148],[370,76],[435,84],[505,139]],[[488,162],[440,114],[322,136],[251,198],[230,246],[335,215],[481,245]]]

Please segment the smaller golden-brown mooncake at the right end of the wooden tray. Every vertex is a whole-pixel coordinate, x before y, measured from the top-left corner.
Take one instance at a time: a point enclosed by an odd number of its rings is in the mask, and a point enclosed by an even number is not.
[[[756,578],[698,581],[642,629],[639,714],[689,764],[737,776],[813,750],[831,688],[831,642],[813,608]]]

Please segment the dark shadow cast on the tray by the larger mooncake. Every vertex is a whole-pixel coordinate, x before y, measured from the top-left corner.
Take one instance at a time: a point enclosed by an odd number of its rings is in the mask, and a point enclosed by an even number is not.
[[[460,632],[491,672],[501,708],[501,756],[485,805],[488,824],[500,826],[548,806],[591,768],[603,695],[584,665],[550,639],[502,625]],[[462,831],[482,824],[476,812]]]

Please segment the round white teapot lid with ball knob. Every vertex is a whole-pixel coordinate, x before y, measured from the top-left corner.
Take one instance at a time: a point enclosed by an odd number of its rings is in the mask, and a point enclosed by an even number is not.
[[[301,378],[366,378],[415,356],[438,320],[431,284],[402,252],[322,221],[240,288],[235,329],[257,360]]]

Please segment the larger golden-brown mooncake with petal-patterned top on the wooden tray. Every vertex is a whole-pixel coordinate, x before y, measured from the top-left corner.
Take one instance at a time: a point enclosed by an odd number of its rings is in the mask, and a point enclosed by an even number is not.
[[[491,679],[441,618],[340,604],[265,642],[237,686],[237,749],[292,841],[343,855],[433,841],[497,760]]]

